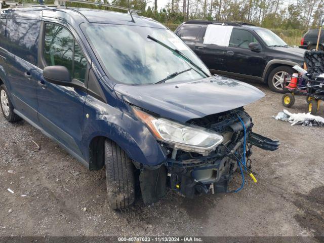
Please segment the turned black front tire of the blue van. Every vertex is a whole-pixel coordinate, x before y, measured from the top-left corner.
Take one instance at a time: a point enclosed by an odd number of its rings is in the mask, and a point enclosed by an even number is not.
[[[112,209],[125,209],[135,200],[135,167],[115,142],[105,141],[107,193]]]

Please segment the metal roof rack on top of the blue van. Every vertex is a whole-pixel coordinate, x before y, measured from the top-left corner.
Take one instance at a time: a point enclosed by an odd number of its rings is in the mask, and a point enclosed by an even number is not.
[[[63,4],[61,5],[61,4],[59,4],[59,2],[62,2]],[[142,11],[136,10],[136,9],[130,9],[130,8],[111,5],[111,4],[103,4],[103,3],[96,3],[96,2],[83,1],[83,0],[59,0],[59,1],[54,1],[54,3],[57,3],[57,4],[46,5],[46,4],[7,2],[4,0],[0,0],[0,11],[1,11],[3,4],[4,4],[4,6],[10,6],[11,8],[26,8],[26,7],[65,7],[66,3],[78,3],[78,4],[91,4],[91,5],[96,5],[98,7],[108,7],[108,8],[114,8],[114,9],[126,10],[130,13],[132,19],[133,19],[132,14],[137,14],[137,13],[142,12]],[[1,12],[0,12],[0,15],[1,15]]]

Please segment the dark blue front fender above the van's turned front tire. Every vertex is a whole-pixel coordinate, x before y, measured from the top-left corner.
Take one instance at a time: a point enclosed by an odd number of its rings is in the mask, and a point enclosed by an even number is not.
[[[85,117],[83,148],[89,161],[89,145],[93,138],[104,136],[117,143],[128,156],[138,163],[157,166],[166,155],[148,128],[132,115],[131,108],[121,111],[88,96],[84,106]]]

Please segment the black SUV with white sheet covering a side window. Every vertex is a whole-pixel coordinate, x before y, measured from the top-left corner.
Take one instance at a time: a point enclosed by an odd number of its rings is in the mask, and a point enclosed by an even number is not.
[[[285,74],[304,63],[304,50],[289,47],[269,29],[247,23],[190,20],[175,33],[212,73],[267,82],[279,93]]]

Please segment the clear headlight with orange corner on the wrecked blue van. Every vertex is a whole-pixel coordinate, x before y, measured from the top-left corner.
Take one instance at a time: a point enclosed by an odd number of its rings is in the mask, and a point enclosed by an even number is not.
[[[137,108],[133,110],[158,140],[173,145],[175,149],[206,155],[223,142],[223,136],[213,131],[156,118]]]

